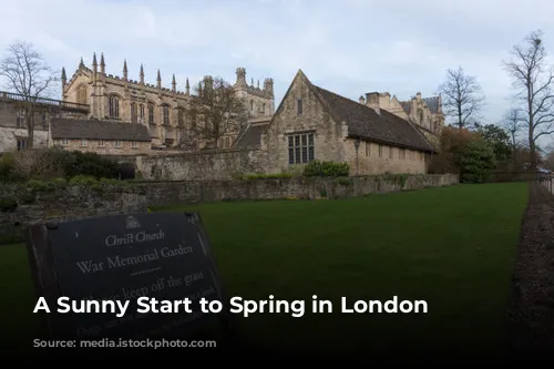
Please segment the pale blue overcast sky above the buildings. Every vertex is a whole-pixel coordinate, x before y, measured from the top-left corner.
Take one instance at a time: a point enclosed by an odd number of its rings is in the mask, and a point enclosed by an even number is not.
[[[144,63],[177,88],[205,74],[275,81],[276,106],[298,69],[321,88],[357,100],[388,91],[400,100],[433,95],[445,71],[461,65],[486,96],[483,116],[496,123],[510,107],[502,69],[511,48],[544,32],[554,55],[552,0],[0,0],[0,57],[32,42],[68,78],[83,57],[103,52],[106,72],[131,79]],[[551,59],[552,60],[552,59]],[[59,96],[57,96],[59,98]]]

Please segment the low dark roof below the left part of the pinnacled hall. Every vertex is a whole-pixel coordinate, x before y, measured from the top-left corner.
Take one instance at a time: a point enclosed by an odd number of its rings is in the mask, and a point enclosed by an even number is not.
[[[151,142],[142,124],[96,120],[57,119],[51,124],[52,139]]]

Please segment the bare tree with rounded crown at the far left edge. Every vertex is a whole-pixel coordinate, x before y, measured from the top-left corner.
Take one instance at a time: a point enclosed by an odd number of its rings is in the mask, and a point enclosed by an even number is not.
[[[0,61],[0,76],[6,79],[8,90],[22,96],[18,104],[24,113],[28,147],[32,148],[37,102],[49,95],[58,81],[57,72],[44,62],[32,43],[17,41],[8,47],[6,58]]]

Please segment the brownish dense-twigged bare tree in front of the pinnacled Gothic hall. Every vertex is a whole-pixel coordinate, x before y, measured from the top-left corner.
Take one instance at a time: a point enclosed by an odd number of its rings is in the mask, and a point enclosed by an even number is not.
[[[235,89],[222,78],[205,76],[195,90],[196,96],[187,110],[193,134],[204,140],[207,147],[218,148],[220,137],[238,132],[246,109]]]

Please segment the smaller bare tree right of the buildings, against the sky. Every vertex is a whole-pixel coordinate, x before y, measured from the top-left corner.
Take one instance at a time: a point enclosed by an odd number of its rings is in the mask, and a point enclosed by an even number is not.
[[[466,75],[461,66],[447,71],[447,80],[439,86],[439,91],[444,113],[453,119],[459,129],[471,125],[478,119],[484,95],[476,79]]]

